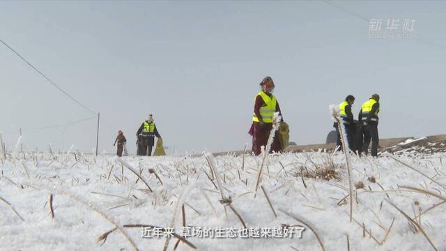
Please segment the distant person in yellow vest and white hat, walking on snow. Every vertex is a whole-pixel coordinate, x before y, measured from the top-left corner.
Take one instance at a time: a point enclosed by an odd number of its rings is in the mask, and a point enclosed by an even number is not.
[[[138,155],[151,156],[153,145],[155,144],[155,136],[160,138],[152,114],[149,114],[137,131],[138,137]]]

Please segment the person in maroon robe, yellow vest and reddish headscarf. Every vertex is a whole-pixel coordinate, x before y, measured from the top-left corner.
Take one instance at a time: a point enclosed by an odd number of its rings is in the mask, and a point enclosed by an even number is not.
[[[263,78],[260,86],[261,91],[254,98],[254,115],[252,116],[252,126],[248,132],[249,135],[252,135],[252,152],[255,155],[261,153],[261,146],[266,147],[272,129],[272,116],[274,116],[274,113],[279,112],[279,115],[282,116],[279,102],[277,102],[277,98],[272,94],[275,88],[272,78]],[[278,153],[280,151],[282,151],[282,147],[279,142],[279,133],[276,131],[270,153]]]

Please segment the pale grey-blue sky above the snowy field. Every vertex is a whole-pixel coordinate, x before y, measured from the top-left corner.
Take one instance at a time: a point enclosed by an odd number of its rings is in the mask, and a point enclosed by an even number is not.
[[[117,130],[134,152],[153,113],[164,144],[243,149],[270,75],[291,140],[321,143],[328,105],[381,96],[380,137],[445,133],[446,1],[0,1],[0,38],[101,113],[100,151]],[[368,38],[360,17],[415,19],[415,40]],[[385,26],[385,24],[383,24]],[[0,131],[92,116],[0,44]],[[28,147],[95,146],[95,120],[24,131]]]

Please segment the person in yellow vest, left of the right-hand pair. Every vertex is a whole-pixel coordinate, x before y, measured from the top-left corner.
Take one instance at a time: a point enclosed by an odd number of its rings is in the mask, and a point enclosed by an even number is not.
[[[342,119],[342,125],[344,126],[346,132],[346,140],[348,142],[348,147],[355,151],[353,136],[355,135],[355,125],[353,124],[353,113],[351,112],[351,106],[355,102],[355,97],[353,95],[348,95],[346,99],[339,104],[339,116]],[[336,122],[334,122],[333,127],[337,132],[337,143],[339,146],[339,151],[342,149],[341,135],[339,134],[339,126]]]

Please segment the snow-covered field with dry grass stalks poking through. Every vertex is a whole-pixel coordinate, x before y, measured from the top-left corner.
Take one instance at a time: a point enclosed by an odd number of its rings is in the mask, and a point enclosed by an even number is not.
[[[445,158],[351,156],[350,220],[341,153],[270,155],[260,177],[252,155],[11,153],[0,250],[446,250]]]

